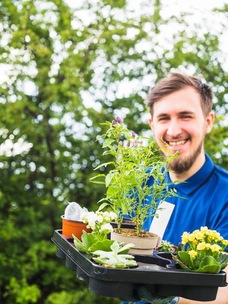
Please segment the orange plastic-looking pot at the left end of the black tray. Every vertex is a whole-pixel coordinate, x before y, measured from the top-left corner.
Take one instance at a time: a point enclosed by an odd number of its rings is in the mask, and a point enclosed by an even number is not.
[[[62,218],[62,234],[65,236],[72,237],[72,234],[78,237],[81,240],[82,230],[85,230],[88,233],[92,232],[92,229],[86,228],[87,224],[84,224],[82,221],[77,220],[66,220],[64,215]]]

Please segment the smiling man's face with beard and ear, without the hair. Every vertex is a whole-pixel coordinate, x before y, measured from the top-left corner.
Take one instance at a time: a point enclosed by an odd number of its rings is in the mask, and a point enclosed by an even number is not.
[[[149,124],[159,147],[163,140],[171,154],[179,151],[172,160],[170,169],[177,173],[187,171],[204,154],[204,137],[212,129],[212,112],[205,118],[199,93],[191,86],[173,92],[153,105],[153,117]],[[165,153],[165,152],[164,152]]]

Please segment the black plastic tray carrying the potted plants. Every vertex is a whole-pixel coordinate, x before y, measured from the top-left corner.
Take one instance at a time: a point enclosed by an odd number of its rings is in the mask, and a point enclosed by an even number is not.
[[[117,269],[98,265],[91,255],[79,252],[73,238],[55,230],[51,240],[56,255],[66,260],[66,266],[76,270],[77,278],[89,283],[89,290],[107,297],[132,295],[137,284],[145,284],[152,292],[180,296],[196,301],[212,301],[219,286],[226,286],[226,272],[205,274],[177,269],[174,261],[156,255],[135,255],[138,267]],[[156,254],[156,253],[155,253]]]

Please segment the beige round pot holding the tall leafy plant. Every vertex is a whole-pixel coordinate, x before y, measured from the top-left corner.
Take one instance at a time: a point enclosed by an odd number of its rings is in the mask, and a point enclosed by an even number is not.
[[[128,229],[124,229],[128,230]],[[124,244],[133,243],[135,246],[130,249],[129,254],[153,254],[154,248],[157,246],[159,236],[150,233],[151,237],[126,236],[121,233],[111,232],[111,239]]]

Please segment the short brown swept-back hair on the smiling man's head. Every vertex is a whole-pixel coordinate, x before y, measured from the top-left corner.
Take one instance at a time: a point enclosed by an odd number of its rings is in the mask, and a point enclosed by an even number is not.
[[[171,73],[170,76],[161,79],[155,86],[149,89],[147,104],[150,107],[151,116],[153,115],[153,105],[156,101],[186,86],[194,87],[200,94],[203,114],[206,117],[208,113],[212,111],[212,89],[207,84],[203,84],[201,80],[195,76],[187,76],[179,73]]]

